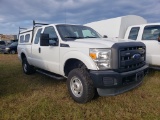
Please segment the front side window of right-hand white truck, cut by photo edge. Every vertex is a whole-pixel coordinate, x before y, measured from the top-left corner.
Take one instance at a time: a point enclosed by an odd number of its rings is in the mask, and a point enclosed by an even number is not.
[[[144,27],[142,40],[158,40],[160,25],[149,25]]]

